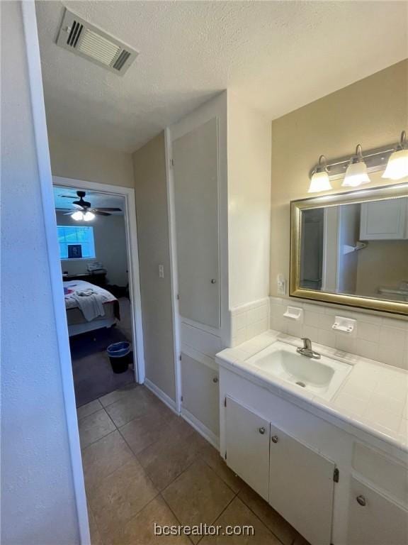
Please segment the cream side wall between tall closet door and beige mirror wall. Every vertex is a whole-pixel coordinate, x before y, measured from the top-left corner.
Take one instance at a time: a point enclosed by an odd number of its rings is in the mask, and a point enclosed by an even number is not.
[[[269,295],[271,120],[228,91],[229,308]]]

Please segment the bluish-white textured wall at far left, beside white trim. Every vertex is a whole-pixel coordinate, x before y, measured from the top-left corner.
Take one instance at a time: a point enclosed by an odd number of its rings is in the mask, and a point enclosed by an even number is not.
[[[75,545],[79,527],[17,1],[1,2],[1,83],[1,541]]]

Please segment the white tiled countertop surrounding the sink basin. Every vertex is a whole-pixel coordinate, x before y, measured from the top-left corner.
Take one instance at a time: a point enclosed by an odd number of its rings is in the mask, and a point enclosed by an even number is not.
[[[240,344],[226,348],[217,354],[217,362],[233,368],[246,378],[268,388],[271,392],[300,406],[327,417],[339,427],[359,435],[361,432],[375,436],[387,444],[397,446],[408,453],[408,372],[368,360],[334,348],[313,343],[314,350],[323,356],[349,363],[351,373],[330,401],[277,378],[266,379],[254,365],[246,362],[251,356],[283,341],[302,346],[302,341],[278,331],[266,331]],[[392,347],[390,347],[392,350]]]

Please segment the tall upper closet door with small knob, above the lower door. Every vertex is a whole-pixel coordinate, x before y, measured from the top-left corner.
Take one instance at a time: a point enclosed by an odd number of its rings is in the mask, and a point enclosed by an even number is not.
[[[217,119],[173,143],[179,312],[220,327]]]

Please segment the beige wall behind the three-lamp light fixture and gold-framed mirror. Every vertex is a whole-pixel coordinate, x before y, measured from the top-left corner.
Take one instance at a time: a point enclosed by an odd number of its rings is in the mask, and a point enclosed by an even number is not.
[[[308,172],[321,153],[334,159],[352,155],[358,143],[369,149],[396,142],[408,124],[407,81],[405,60],[273,121],[272,295],[278,272],[289,278],[289,203],[308,196]],[[334,182],[333,192],[340,184]]]

